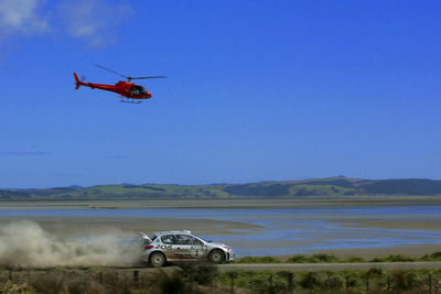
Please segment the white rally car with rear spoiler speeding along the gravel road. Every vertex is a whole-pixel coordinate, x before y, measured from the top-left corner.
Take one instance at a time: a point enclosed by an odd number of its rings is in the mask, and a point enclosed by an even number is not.
[[[205,241],[191,231],[160,231],[152,238],[140,232],[143,240],[142,261],[154,268],[168,262],[209,261],[214,264],[233,261],[235,254],[226,244]]]

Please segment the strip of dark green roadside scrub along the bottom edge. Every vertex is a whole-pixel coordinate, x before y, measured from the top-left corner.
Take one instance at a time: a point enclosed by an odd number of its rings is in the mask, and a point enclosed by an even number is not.
[[[0,271],[0,293],[439,293],[441,270],[230,271],[182,269],[51,269]]]

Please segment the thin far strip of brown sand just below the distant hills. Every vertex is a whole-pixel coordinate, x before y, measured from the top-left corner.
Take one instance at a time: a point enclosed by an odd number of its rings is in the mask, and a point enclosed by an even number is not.
[[[0,209],[17,208],[312,208],[347,206],[409,206],[441,205],[437,196],[357,196],[357,197],[298,197],[298,198],[240,198],[240,199],[127,199],[127,200],[54,200],[54,202],[0,202]]]

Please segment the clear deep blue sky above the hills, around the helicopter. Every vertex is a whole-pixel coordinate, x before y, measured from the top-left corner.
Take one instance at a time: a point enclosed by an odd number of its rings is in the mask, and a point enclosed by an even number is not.
[[[439,1],[0,0],[0,187],[441,178]],[[87,81],[143,80],[141,105]]]

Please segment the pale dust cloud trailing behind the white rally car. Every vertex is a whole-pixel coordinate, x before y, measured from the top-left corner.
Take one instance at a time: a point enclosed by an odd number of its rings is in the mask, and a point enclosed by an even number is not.
[[[121,242],[121,231],[109,229],[92,238],[60,238],[33,221],[4,224],[0,227],[0,266],[127,266],[139,263],[140,243]]]

